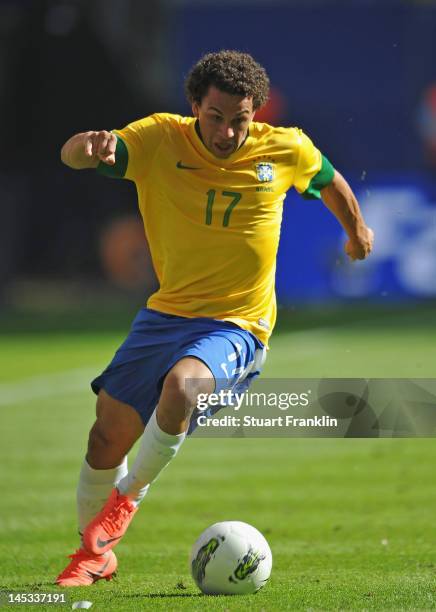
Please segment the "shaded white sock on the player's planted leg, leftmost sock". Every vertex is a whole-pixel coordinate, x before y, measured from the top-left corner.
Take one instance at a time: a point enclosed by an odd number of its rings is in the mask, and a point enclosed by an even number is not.
[[[118,481],[127,474],[127,457],[121,465],[109,470],[94,470],[86,459],[83,460],[77,486],[77,514],[79,532],[100,512],[110,492]]]

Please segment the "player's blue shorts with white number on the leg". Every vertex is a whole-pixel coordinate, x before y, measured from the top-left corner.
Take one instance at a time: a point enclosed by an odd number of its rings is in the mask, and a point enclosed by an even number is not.
[[[259,375],[265,347],[251,332],[227,321],[141,308],[111,363],[91,382],[92,390],[98,394],[104,389],[129,404],[147,424],[166,374],[183,357],[196,357],[207,365],[216,393],[227,389],[239,393]],[[189,433],[195,429],[195,416]]]

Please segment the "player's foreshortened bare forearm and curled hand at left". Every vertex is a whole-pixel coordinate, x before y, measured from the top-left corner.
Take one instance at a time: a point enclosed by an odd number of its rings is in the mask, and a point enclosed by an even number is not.
[[[61,149],[61,160],[74,170],[97,168],[100,162],[113,166],[117,137],[111,132],[81,132],[72,136]]]

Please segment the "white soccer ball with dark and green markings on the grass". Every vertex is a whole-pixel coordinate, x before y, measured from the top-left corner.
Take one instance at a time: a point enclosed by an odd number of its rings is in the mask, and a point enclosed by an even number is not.
[[[192,577],[206,595],[243,595],[265,585],[272,554],[260,531],[240,521],[224,521],[203,531],[190,561]]]

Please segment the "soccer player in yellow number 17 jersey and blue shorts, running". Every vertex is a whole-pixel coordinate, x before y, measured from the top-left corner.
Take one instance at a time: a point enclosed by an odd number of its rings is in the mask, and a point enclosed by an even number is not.
[[[371,251],[351,188],[311,140],[254,121],[268,91],[250,55],[210,53],[186,79],[193,117],[158,113],[122,130],[76,134],[62,147],[70,168],[135,182],[159,289],[91,383],[97,418],[77,489],[82,541],[61,586],[112,577],[112,549],[195,426],[197,394],[235,390],[259,374],[276,318],[288,189],[322,198],[348,235],[351,259]]]

